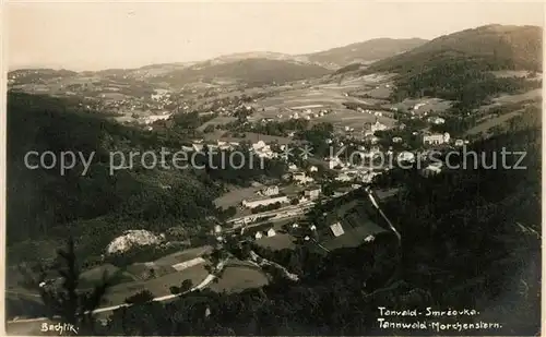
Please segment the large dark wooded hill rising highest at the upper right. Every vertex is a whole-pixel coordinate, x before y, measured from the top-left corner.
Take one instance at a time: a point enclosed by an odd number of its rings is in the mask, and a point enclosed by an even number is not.
[[[542,71],[542,28],[487,25],[438,37],[371,64],[365,72],[397,73],[393,100],[440,97],[470,110],[500,93],[541,87],[541,81],[498,79],[491,71]]]

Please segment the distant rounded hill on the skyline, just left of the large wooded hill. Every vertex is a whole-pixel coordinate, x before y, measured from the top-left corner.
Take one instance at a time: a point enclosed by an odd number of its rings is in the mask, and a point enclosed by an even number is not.
[[[364,43],[351,44],[324,51],[305,55],[309,61],[331,63],[339,68],[356,62],[370,62],[412,50],[426,44],[422,38],[376,38]]]

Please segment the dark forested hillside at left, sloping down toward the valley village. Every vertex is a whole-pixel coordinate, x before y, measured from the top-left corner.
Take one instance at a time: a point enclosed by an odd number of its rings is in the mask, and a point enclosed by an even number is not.
[[[276,163],[268,163],[265,170],[259,165],[239,170],[145,169],[136,157],[132,169],[110,174],[110,152],[122,152],[128,158],[130,152],[179,151],[200,125],[197,115],[178,116],[163,131],[142,132],[79,112],[78,104],[64,99],[10,93],[8,104],[9,261],[52,257],[69,233],[90,260],[128,229],[164,232],[182,227],[190,239],[223,217],[213,200],[223,193],[224,183],[245,184],[265,171],[284,173]],[[95,155],[85,176],[81,160],[61,174],[59,163],[51,169],[26,168],[29,151],[58,157],[61,152],[81,153],[85,159]],[[204,157],[197,158],[207,164]],[[50,157],[47,160],[49,165]]]

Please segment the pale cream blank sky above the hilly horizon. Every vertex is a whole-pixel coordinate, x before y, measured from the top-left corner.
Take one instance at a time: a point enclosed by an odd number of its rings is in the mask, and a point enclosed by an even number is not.
[[[378,37],[431,39],[485,24],[543,25],[522,2],[16,2],[4,7],[10,70],[100,70],[245,51],[307,53]]]

